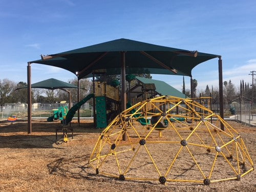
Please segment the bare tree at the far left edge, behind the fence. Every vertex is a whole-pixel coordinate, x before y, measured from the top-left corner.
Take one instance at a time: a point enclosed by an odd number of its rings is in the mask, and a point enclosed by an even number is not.
[[[16,88],[16,83],[9,79],[0,79],[0,105],[12,102],[12,92]]]

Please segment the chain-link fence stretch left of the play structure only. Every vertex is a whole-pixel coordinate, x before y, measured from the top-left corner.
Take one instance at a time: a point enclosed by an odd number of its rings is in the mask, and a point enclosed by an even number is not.
[[[73,103],[76,104],[76,103]],[[32,104],[32,118],[48,118],[53,115],[53,110],[60,106],[68,106],[68,103],[53,103],[53,104]],[[80,110],[80,117],[93,117],[93,108],[89,103],[84,103]],[[25,103],[6,103],[0,106],[0,119],[7,119],[9,116],[16,116],[17,118],[28,117],[28,105]],[[77,117],[77,112],[74,115]]]

